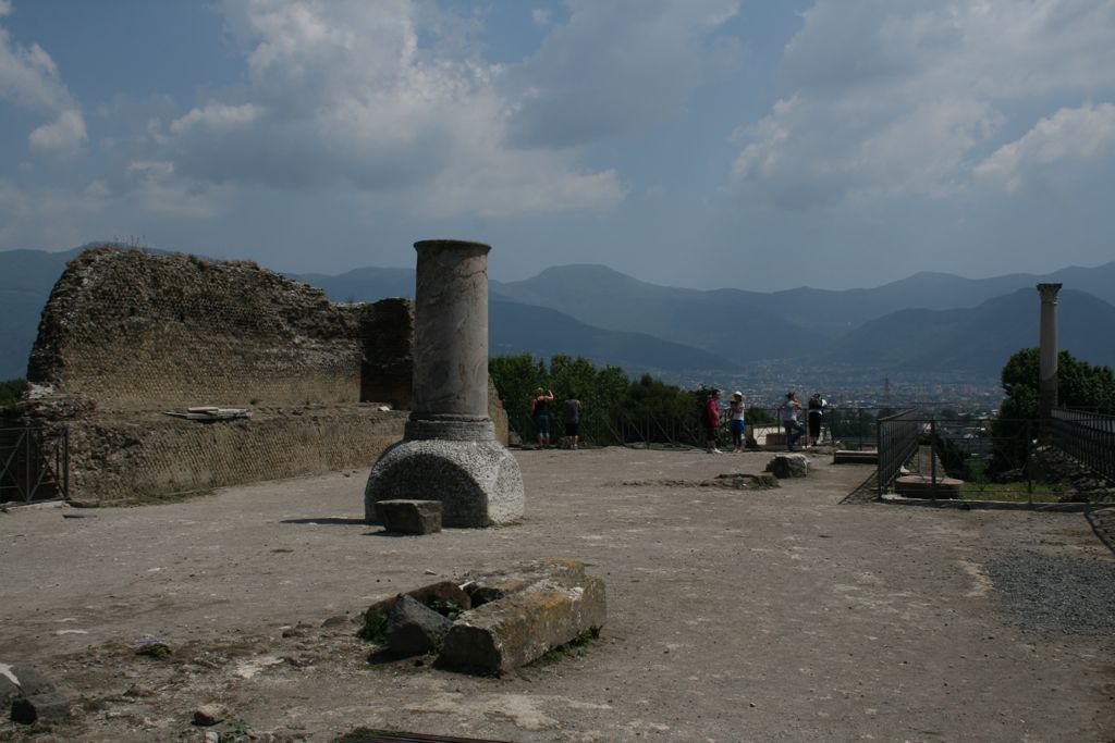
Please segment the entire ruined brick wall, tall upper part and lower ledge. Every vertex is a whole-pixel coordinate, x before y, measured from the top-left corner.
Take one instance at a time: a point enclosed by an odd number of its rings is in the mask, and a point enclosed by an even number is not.
[[[413,313],[333,304],[254,263],[93,248],[42,311],[21,422],[69,427],[77,499],[370,467],[403,436]],[[163,414],[198,405],[251,418]]]

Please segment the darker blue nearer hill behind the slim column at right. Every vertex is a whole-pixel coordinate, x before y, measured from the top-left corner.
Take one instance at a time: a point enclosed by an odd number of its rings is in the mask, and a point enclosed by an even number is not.
[[[1036,348],[1040,304],[1021,289],[970,310],[902,310],[864,323],[817,359],[851,365],[998,374],[1010,354]],[[1061,290],[1058,346],[1093,364],[1115,366],[1115,306]]]

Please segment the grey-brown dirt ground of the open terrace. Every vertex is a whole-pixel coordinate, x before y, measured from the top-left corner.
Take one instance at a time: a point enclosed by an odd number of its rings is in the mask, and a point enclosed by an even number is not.
[[[1115,740],[1115,633],[1034,630],[985,568],[1115,560],[1080,514],[840,505],[869,469],[825,454],[770,490],[686,485],[762,452],[515,456],[526,518],[497,529],[385,536],[366,471],[0,514],[0,664],[75,703],[0,740],[204,741],[207,703],[221,740]],[[473,677],[355,637],[379,597],[537,557],[608,588],[600,638],[556,662]],[[137,655],[147,636],[172,654]]]

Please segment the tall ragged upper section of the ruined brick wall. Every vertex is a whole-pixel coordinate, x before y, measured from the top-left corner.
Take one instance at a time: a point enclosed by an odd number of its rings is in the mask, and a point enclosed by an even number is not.
[[[51,292],[28,380],[100,409],[356,402],[374,312],[251,262],[91,248]]]

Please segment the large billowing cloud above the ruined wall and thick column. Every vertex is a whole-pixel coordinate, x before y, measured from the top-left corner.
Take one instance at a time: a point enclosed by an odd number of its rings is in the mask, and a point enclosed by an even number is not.
[[[147,146],[174,178],[407,195],[417,212],[511,215],[608,206],[612,170],[576,151],[507,144],[504,68],[462,48],[455,19],[407,0],[256,0],[221,6],[248,81],[173,119]],[[433,13],[433,14],[432,14]],[[462,21],[467,26],[467,22]],[[434,35],[419,46],[420,33]],[[166,185],[166,182],[161,182]]]

